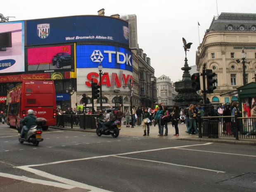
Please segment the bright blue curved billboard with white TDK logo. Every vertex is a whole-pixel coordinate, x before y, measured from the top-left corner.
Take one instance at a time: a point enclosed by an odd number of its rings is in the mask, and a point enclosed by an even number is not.
[[[123,69],[133,72],[132,52],[109,45],[76,45],[76,68]]]

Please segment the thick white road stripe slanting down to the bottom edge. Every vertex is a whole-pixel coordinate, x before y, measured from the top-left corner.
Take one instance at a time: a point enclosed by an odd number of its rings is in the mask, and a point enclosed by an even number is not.
[[[49,179],[52,179],[52,180],[55,180],[55,181],[59,181],[61,183],[66,183],[68,185],[72,185],[72,186],[82,188],[82,189],[88,189],[88,190],[91,190],[91,192],[109,192],[107,190],[103,190],[103,189],[100,189],[100,188],[97,188],[97,187],[86,185],[84,183],[79,183],[79,182],[76,182],[76,181],[73,181],[73,180],[70,180],[70,179],[62,178],[62,177],[52,175],[52,174],[46,173],[44,171],[39,171],[39,170],[36,170],[36,169],[33,169],[33,168],[29,168],[29,167],[26,167],[26,166],[21,166],[19,168],[23,169],[25,171],[34,173],[36,175],[40,175],[40,176],[45,177],[45,178],[49,178]]]

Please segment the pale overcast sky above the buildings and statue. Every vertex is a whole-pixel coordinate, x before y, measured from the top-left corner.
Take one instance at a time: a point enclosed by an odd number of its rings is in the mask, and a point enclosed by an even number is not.
[[[255,13],[256,0],[0,0],[0,4],[0,13],[15,17],[9,21],[97,15],[102,8],[105,16],[136,14],[138,44],[151,59],[155,77],[166,75],[175,82],[183,75],[182,38],[193,43],[187,59],[189,66],[195,65],[199,39],[202,42],[213,17],[221,12]]]

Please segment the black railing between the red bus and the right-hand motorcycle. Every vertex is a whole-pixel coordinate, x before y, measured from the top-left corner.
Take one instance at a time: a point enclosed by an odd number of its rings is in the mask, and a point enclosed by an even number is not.
[[[57,127],[96,129],[99,115],[57,115]]]

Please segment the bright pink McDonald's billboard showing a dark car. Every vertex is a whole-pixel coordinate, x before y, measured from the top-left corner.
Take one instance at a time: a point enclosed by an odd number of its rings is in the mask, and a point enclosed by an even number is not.
[[[73,45],[26,49],[28,73],[74,71]]]

